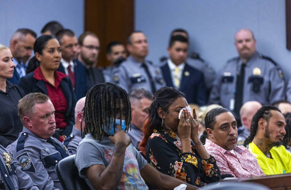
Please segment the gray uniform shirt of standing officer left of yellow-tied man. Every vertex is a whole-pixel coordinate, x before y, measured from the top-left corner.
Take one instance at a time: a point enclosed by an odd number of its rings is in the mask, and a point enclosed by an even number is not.
[[[155,89],[166,86],[160,68],[151,64],[150,61],[145,61],[145,65],[152,76]],[[142,63],[131,56],[123,61],[119,67],[113,68],[113,83],[125,89],[127,93],[139,87],[152,92],[150,79],[145,68],[142,67]],[[154,94],[155,92],[152,93]]]

